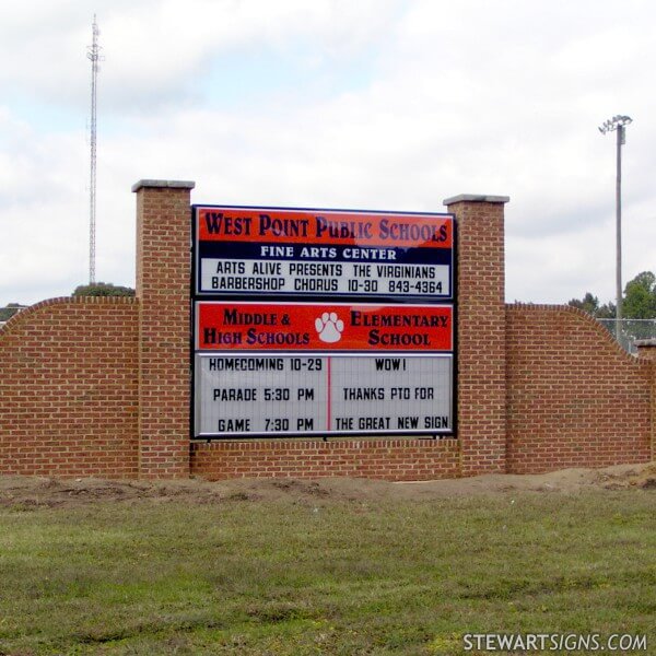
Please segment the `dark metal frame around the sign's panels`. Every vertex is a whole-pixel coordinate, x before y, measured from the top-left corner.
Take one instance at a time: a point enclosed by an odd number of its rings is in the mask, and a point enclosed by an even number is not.
[[[452,347],[453,350],[449,352],[437,352],[437,351],[386,351],[379,353],[379,356],[384,358],[440,358],[450,359],[450,427],[444,430],[424,430],[424,429],[405,429],[405,430],[363,430],[363,431],[313,431],[313,432],[294,432],[294,431],[285,431],[285,432],[225,432],[225,433],[202,433],[200,434],[196,430],[197,424],[197,399],[196,399],[196,385],[197,385],[197,376],[196,376],[196,362],[197,358],[211,356],[211,355],[229,355],[229,356],[239,356],[239,355],[248,355],[245,352],[238,351],[200,351],[197,350],[197,306],[202,302],[232,302],[232,303],[276,303],[273,298],[280,298],[279,295],[273,296],[271,293],[251,293],[251,292],[218,292],[218,293],[209,293],[209,292],[199,292],[199,276],[200,276],[200,267],[201,267],[201,258],[199,256],[199,236],[198,236],[198,219],[197,219],[197,210],[199,208],[211,208],[211,209],[231,209],[231,210],[261,210],[261,211],[281,211],[281,212],[326,212],[326,213],[353,213],[353,214],[367,214],[375,216],[403,216],[408,219],[417,219],[422,216],[435,218],[435,219],[447,219],[450,221],[450,235],[452,235],[452,245],[450,245],[450,259],[449,259],[449,295],[448,296],[437,296],[434,298],[429,298],[426,296],[418,295],[418,294],[406,294],[406,295],[376,295],[376,296],[365,296],[360,294],[343,294],[338,293],[333,295],[327,295],[325,293],[318,294],[290,294],[288,293],[284,297],[284,301],[289,303],[296,304],[311,304],[311,303],[325,303],[326,305],[448,305],[452,307]],[[329,438],[353,438],[353,437],[371,437],[371,436],[407,436],[409,438],[421,438],[425,437],[429,440],[444,440],[444,438],[457,438],[458,434],[458,413],[457,413],[457,397],[458,397],[458,335],[457,335],[457,326],[458,326],[458,290],[457,290],[457,267],[458,267],[458,257],[457,257],[457,221],[454,213],[450,212],[396,212],[396,211],[380,211],[380,210],[354,210],[354,209],[327,209],[327,208],[291,208],[291,207],[271,207],[271,206],[233,206],[233,204],[207,204],[207,203],[195,203],[191,206],[191,274],[190,274],[190,303],[191,303],[191,312],[190,312],[190,422],[189,422],[189,433],[191,442],[211,442],[214,440],[218,441],[248,441],[250,438],[267,438],[267,440],[284,440],[288,437],[298,440],[303,437],[303,435],[307,435],[308,438],[323,438],[327,441]],[[393,248],[391,246],[390,248]],[[250,355],[256,355],[260,353],[262,356],[267,356],[267,353],[270,353],[271,356],[374,356],[372,353],[367,352],[355,352],[355,351],[333,351],[333,352],[325,352],[325,351],[254,351],[250,352]]]

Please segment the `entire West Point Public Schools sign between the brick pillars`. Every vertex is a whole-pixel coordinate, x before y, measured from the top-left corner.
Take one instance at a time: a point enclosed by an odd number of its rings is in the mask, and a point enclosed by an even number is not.
[[[194,220],[195,436],[453,433],[453,216]]]

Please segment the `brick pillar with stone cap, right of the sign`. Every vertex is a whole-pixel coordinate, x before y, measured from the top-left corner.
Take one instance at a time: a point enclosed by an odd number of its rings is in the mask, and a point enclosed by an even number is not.
[[[444,201],[456,215],[458,424],[462,476],[506,470],[504,203],[465,194]]]

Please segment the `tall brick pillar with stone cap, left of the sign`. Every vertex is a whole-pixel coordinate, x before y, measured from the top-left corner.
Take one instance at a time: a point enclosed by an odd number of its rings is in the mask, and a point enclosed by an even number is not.
[[[137,194],[139,476],[189,476],[190,192],[140,180]]]

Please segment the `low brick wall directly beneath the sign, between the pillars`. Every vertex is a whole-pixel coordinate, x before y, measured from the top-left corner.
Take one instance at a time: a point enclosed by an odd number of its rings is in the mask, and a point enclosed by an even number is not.
[[[191,473],[246,477],[431,480],[459,476],[456,440],[270,440],[195,443]]]

